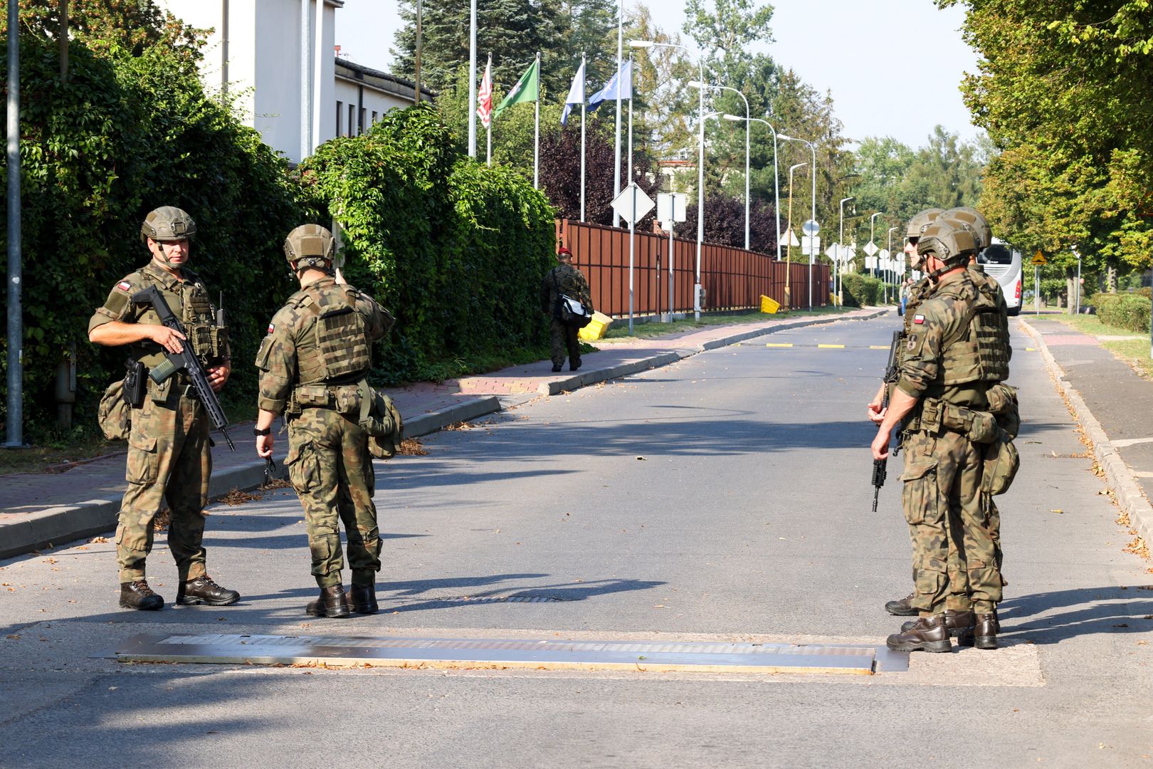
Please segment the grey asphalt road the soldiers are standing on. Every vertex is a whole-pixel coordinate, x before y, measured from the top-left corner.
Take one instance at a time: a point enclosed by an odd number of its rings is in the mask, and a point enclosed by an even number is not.
[[[374,617],[303,616],[291,491],[210,511],[235,606],[118,609],[110,543],[0,561],[0,766],[1150,766],[1151,564],[1016,332],[996,651],[871,677],[90,658],[137,633],[883,642],[910,548],[896,462],[869,512],[864,415],[894,324],[782,332],[425,438],[379,466]],[[166,551],[150,580],[171,602]],[[511,595],[557,601],[460,600]]]

